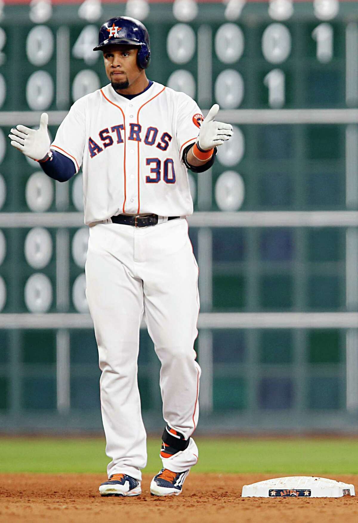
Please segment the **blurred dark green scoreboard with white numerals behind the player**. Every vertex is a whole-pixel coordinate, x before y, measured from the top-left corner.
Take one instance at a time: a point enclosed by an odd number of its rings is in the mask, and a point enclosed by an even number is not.
[[[18,123],[37,126],[46,111],[54,138],[73,102],[108,83],[92,49],[100,24],[125,14],[148,28],[148,77],[195,98],[204,113],[218,103],[234,128],[210,171],[189,173],[209,318],[197,341],[203,411],[344,412],[343,329],[218,329],[210,314],[358,312],[357,221],[348,229],[338,218],[290,224],[298,211],[358,210],[358,3],[33,0],[5,3],[0,13],[0,416],[98,408],[82,175],[55,183],[7,134]],[[228,226],[224,218],[251,212],[281,212],[281,221]],[[74,328],[70,315],[79,314]],[[146,336],[140,384],[152,412],[158,362]]]

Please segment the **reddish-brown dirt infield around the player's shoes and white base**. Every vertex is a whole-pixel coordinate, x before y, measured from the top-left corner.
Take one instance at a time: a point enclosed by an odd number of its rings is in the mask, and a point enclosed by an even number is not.
[[[284,474],[283,474],[284,475]],[[99,523],[103,521],[185,523],[325,523],[358,521],[358,496],[343,498],[241,498],[242,485],[272,475],[191,474],[180,496],[154,497],[151,476],[144,476],[143,493],[132,498],[102,498],[104,476],[84,474],[1,474],[0,521]],[[358,475],[332,479],[353,483]]]

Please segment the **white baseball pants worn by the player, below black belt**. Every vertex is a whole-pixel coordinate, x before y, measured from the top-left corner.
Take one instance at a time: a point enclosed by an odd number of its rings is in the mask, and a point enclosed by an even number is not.
[[[112,460],[108,477],[125,473],[141,480],[147,448],[137,359],[144,311],[161,361],[165,422],[188,439],[199,414],[200,367],[193,349],[199,314],[198,266],[187,221],[179,218],[147,228],[98,223],[90,228],[85,271],[102,370],[100,402],[106,454]],[[162,458],[163,466],[183,472],[196,463],[197,456],[191,438],[187,449]]]

